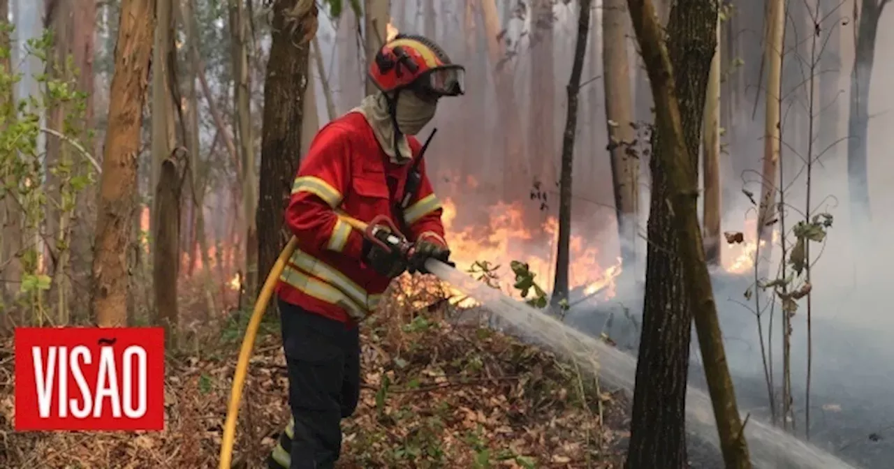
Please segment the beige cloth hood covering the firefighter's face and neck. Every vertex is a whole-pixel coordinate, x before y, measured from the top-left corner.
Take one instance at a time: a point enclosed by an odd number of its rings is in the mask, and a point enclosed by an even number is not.
[[[408,135],[416,135],[434,117],[437,104],[419,99],[410,91],[401,92],[397,99],[396,115],[392,115],[388,109],[388,98],[381,91],[376,91],[363,99],[360,105],[352,111],[362,113],[369,126],[372,127],[375,139],[388,155],[392,163],[407,163],[410,159]],[[400,137],[394,131],[394,121],[397,121]],[[395,151],[395,149],[397,151]],[[400,158],[398,158],[400,155]]]

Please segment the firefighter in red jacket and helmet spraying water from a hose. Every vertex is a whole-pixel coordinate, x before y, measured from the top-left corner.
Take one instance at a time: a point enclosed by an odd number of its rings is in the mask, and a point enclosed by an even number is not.
[[[285,213],[299,244],[276,288],[292,418],[270,467],[334,466],[341,420],[359,398],[358,322],[402,272],[426,273],[428,258],[449,262],[442,208],[425,161],[414,163],[413,136],[441,97],[464,93],[464,72],[429,39],[397,36],[369,67],[379,91],[319,130],[300,164]],[[370,242],[336,210],[363,222],[385,215],[413,248],[401,255],[386,230],[375,235],[384,245]]]

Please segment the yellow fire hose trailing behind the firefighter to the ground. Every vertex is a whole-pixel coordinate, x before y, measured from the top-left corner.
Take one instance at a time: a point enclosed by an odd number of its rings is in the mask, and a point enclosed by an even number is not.
[[[357,230],[366,231],[368,228],[368,224],[365,222],[361,222],[345,214],[339,214],[339,216],[342,221],[348,222],[348,224]],[[221,462],[218,466],[220,469],[230,469],[230,465],[232,465],[232,448],[233,443],[235,443],[236,440],[237,415],[239,415],[242,389],[245,387],[245,376],[249,371],[249,358],[251,358],[251,351],[255,347],[257,329],[261,325],[261,319],[264,317],[264,312],[267,310],[270,298],[273,297],[276,281],[279,279],[280,274],[283,273],[285,264],[289,261],[289,258],[295,251],[297,245],[298,239],[294,236],[291,237],[289,243],[283,248],[283,252],[280,253],[279,258],[276,259],[276,264],[270,269],[270,273],[267,275],[267,280],[264,281],[264,288],[261,289],[261,293],[257,296],[255,309],[252,311],[249,325],[245,329],[245,336],[242,338],[242,348],[240,348],[239,351],[239,361],[236,363],[236,373],[234,373],[232,377],[230,406],[227,408],[226,423],[223,425]]]

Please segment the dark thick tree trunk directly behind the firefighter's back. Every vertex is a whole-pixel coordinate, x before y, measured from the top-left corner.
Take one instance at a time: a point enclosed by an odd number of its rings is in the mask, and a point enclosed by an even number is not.
[[[283,227],[292,181],[298,172],[308,86],[310,39],[316,34],[316,4],[278,0],[274,4],[270,58],[264,85],[261,134],[262,190],[257,207],[258,267],[269,272],[291,233]]]

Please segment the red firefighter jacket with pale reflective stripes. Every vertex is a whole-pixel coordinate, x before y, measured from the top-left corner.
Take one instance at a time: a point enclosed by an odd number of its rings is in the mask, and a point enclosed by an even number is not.
[[[415,158],[418,140],[410,137],[409,146]],[[384,214],[401,226],[392,206],[401,199],[409,168],[409,163],[391,162],[361,113],[347,113],[316,134],[285,212],[298,248],[276,287],[283,301],[346,324],[375,309],[391,280],[364,264],[363,234],[335,210],[362,222]],[[418,170],[422,183],[402,214],[409,230],[404,234],[410,241],[426,238],[446,246],[443,210],[426,176],[425,160]]]

